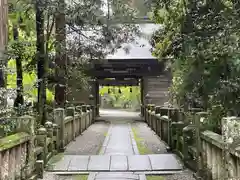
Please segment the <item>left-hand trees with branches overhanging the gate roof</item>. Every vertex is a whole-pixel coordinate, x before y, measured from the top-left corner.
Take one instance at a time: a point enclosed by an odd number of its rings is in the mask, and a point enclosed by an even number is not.
[[[134,40],[136,25],[110,20],[132,19],[136,11],[116,1],[110,14],[112,5],[88,0],[9,1],[7,88],[16,88],[15,107],[27,99],[37,102],[43,123],[47,101],[64,102],[71,88],[88,88],[84,70],[91,59]]]

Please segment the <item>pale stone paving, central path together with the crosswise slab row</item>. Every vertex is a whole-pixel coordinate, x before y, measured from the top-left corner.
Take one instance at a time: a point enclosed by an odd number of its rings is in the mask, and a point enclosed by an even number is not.
[[[130,124],[140,120],[138,113],[105,110],[101,111],[101,119],[111,122],[111,125],[100,155],[65,155],[55,164],[53,171],[58,171],[57,174],[61,174],[60,171],[91,172],[88,180],[143,180],[145,175],[136,171],[181,170],[181,164],[172,154],[139,155]]]

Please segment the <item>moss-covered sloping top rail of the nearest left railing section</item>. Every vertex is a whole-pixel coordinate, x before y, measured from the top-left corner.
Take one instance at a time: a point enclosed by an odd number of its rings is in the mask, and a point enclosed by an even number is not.
[[[10,149],[14,146],[27,142],[30,139],[29,134],[25,132],[16,133],[0,139],[0,151]]]

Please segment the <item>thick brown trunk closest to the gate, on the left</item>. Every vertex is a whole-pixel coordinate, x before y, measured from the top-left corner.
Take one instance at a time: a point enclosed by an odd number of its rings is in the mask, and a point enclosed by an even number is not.
[[[57,84],[55,86],[56,106],[64,107],[66,101],[66,20],[65,20],[65,2],[58,1],[58,12],[56,13],[56,57],[55,57],[55,77]]]

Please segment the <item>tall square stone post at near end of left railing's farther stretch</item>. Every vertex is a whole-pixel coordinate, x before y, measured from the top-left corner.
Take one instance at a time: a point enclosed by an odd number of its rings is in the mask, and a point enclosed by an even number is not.
[[[59,149],[58,151],[63,152],[65,148],[65,123],[64,123],[64,118],[65,118],[65,110],[63,108],[57,108],[54,109],[54,122],[58,125],[59,127],[59,136],[57,139],[59,139]]]

